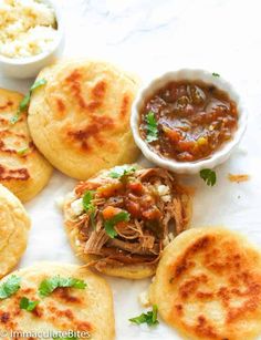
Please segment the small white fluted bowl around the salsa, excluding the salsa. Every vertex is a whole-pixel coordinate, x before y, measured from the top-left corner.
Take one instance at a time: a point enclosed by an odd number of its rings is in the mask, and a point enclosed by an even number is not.
[[[148,144],[140,137],[138,131],[139,112],[144,107],[146,100],[159,89],[164,87],[167,83],[171,81],[181,80],[202,81],[227,92],[229,97],[236,102],[239,115],[238,128],[233,133],[231,140],[226,142],[219,150],[215,151],[215,153],[208,158],[195,162],[178,162],[175,159],[159,156],[153,150],[149,148]],[[178,174],[196,174],[202,168],[213,168],[229,158],[231,152],[239,144],[240,140],[243,136],[243,133],[247,127],[247,110],[239,94],[236,92],[236,90],[229,82],[225,81],[221,76],[213,76],[212,73],[205,70],[182,69],[178,71],[167,72],[164,75],[154,79],[139,91],[132,107],[130,127],[137,146],[140,148],[144,156],[148,161]]]

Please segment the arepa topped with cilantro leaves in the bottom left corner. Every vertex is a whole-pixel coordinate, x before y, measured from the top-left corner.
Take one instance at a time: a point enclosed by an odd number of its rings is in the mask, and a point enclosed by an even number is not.
[[[31,334],[49,331],[53,333],[51,339],[58,331],[79,332],[59,339],[113,340],[115,337],[112,291],[103,278],[86,268],[39,262],[12,272],[0,281],[0,287],[4,284],[13,293],[1,301],[0,320],[4,321],[0,322],[0,331]],[[27,301],[31,302],[30,308]],[[10,338],[1,337],[2,340]]]

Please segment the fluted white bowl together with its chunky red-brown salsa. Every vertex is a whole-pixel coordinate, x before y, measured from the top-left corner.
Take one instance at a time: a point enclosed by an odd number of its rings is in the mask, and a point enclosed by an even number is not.
[[[177,173],[225,162],[240,142],[247,111],[218,73],[184,69],[140,90],[132,111],[136,144],[149,161]]]

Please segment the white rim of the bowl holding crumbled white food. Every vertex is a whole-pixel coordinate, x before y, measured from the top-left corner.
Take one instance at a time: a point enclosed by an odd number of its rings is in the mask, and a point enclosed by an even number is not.
[[[46,56],[51,55],[61,44],[63,37],[64,37],[64,24],[63,24],[63,19],[61,16],[61,10],[58,7],[58,4],[55,3],[54,0],[40,0],[41,2],[44,2],[46,4],[49,4],[53,11],[54,11],[54,16],[58,22],[58,34],[56,38],[54,39],[53,43],[52,43],[52,48],[48,51],[43,51],[39,54],[35,55],[29,55],[29,56],[20,56],[20,58],[9,58],[9,56],[4,56],[3,54],[0,53],[0,62],[4,63],[7,65],[28,65],[28,64],[33,64],[36,63],[41,60],[44,60]]]

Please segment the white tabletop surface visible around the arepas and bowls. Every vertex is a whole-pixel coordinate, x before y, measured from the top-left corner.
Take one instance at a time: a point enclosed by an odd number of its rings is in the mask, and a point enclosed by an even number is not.
[[[194,226],[225,225],[241,230],[261,246],[261,21],[260,1],[239,0],[58,0],[65,20],[70,56],[98,56],[119,63],[146,81],[178,68],[218,72],[234,84],[249,111],[243,141],[210,188],[192,176],[196,187]],[[30,82],[0,79],[25,91]],[[228,173],[247,173],[249,182],[230,183]],[[54,199],[74,181],[55,173],[49,186],[27,208],[32,216],[28,250],[20,267],[35,260],[76,262]],[[137,296],[149,280],[109,279],[115,297],[117,340],[180,339],[163,322],[155,328],[127,321],[143,311]]]

